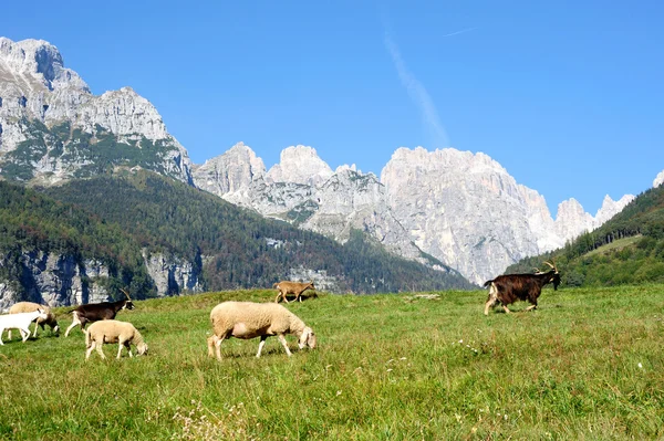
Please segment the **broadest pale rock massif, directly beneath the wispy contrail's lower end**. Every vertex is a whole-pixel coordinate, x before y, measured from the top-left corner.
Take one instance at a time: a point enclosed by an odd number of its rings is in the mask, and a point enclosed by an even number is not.
[[[381,180],[415,244],[475,283],[562,244],[544,199],[484,154],[400,148]]]

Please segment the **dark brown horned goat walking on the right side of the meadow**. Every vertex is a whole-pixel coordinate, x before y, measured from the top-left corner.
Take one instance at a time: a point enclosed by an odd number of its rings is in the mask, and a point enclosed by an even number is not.
[[[560,284],[560,274],[558,273],[556,263],[544,263],[551,266],[551,271],[544,273],[536,269],[537,272],[535,274],[506,274],[485,282],[485,287],[490,286],[489,297],[485,304],[485,315],[489,315],[489,308],[497,302],[500,302],[502,308],[508,314],[510,311],[507,308],[507,305],[516,301],[530,302],[531,306],[528,306],[526,311],[537,308],[537,300],[542,293],[542,286],[552,283],[553,290],[558,290],[558,285]]]

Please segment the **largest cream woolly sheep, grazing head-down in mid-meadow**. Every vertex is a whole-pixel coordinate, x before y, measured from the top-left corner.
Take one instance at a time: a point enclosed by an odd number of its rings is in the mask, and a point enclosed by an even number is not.
[[[300,349],[304,346],[315,348],[313,330],[304,325],[304,322],[298,316],[278,304],[224,302],[212,308],[210,322],[214,334],[207,340],[208,355],[212,357],[212,348],[215,348],[218,360],[221,360],[221,342],[230,337],[242,339],[260,337],[257,358],[260,357],[266,339],[272,335],[279,337],[279,342],[289,357],[291,351],[286,342],[286,334],[293,334],[298,337]]]

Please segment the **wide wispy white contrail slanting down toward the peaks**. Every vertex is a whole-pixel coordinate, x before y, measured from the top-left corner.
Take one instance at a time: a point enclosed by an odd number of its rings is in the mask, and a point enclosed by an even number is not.
[[[464,31],[458,31],[457,33],[461,32]],[[394,66],[396,67],[402,84],[408,91],[411,99],[419,107],[425,126],[432,132],[433,141],[436,144],[435,147],[448,147],[449,139],[447,137],[447,132],[445,130],[445,127],[443,127],[443,124],[440,124],[440,118],[438,117],[438,112],[436,112],[436,106],[434,105],[432,97],[422,83],[408,71],[398,48],[392,41],[387,32],[385,32],[385,46],[392,55],[392,61],[394,62]]]

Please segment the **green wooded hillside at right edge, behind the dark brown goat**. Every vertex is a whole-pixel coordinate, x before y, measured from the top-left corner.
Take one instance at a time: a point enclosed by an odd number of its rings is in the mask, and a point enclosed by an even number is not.
[[[531,271],[550,258],[567,285],[664,282],[664,187],[639,195],[601,228],[563,249],[525,259],[506,273]]]

